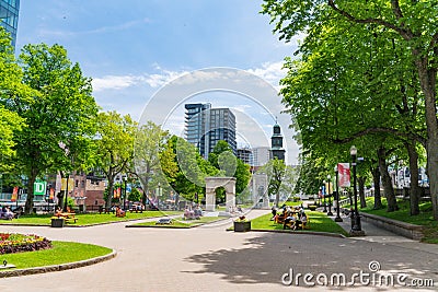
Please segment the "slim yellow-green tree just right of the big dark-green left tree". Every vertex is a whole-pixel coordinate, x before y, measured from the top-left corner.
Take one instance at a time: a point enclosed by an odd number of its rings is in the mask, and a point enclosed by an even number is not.
[[[114,195],[114,179],[128,171],[134,156],[134,139],[137,124],[129,115],[102,112],[97,116],[97,139],[95,143],[95,166],[102,170],[108,180],[108,196],[105,207],[110,208]]]

